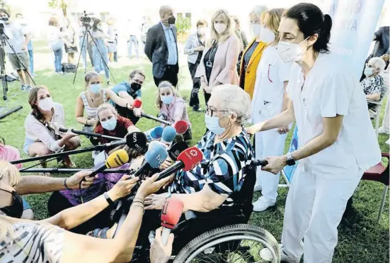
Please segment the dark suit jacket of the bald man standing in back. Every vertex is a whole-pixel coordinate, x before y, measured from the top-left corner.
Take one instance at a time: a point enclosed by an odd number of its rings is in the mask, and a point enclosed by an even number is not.
[[[173,35],[176,40],[176,50],[177,49],[177,33],[176,28],[173,27]],[[147,42],[145,43],[145,54],[149,57],[149,60],[153,64],[153,76],[156,78],[161,78],[164,75],[166,64],[168,62],[168,46],[166,44],[166,38],[164,34],[164,29],[161,23],[158,23],[151,28],[147,33]],[[176,63],[174,65],[176,68],[176,73],[179,72],[179,65]]]

